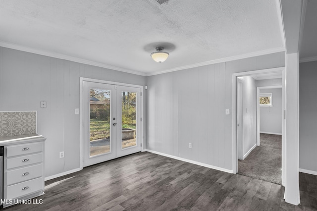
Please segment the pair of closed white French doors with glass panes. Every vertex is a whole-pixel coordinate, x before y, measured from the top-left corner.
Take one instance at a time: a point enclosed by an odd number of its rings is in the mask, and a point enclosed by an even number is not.
[[[83,82],[83,166],[141,151],[141,88]]]

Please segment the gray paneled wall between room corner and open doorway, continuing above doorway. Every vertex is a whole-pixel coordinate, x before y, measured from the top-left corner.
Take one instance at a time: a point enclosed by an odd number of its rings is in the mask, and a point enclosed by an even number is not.
[[[149,76],[147,148],[232,170],[232,74],[283,66],[281,52]]]

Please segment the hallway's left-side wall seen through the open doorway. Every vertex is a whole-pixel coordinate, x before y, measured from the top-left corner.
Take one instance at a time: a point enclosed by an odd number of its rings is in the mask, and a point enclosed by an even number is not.
[[[257,144],[257,88],[251,76],[239,77],[243,81],[243,158]]]

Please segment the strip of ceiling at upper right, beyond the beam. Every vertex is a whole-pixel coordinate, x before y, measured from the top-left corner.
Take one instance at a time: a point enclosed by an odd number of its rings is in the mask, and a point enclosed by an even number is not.
[[[308,0],[300,47],[301,59],[317,60],[317,0]]]

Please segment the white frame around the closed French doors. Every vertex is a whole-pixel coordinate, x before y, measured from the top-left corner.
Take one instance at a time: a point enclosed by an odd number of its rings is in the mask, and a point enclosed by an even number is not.
[[[143,149],[143,141],[144,141],[144,121],[143,121],[143,95],[144,89],[143,86],[140,85],[134,85],[134,84],[125,84],[125,83],[118,83],[118,82],[113,82],[113,81],[105,81],[105,80],[100,80],[100,79],[93,79],[93,78],[84,78],[80,77],[80,107],[79,107],[79,144],[80,144],[80,169],[83,169],[83,82],[88,81],[88,82],[96,82],[96,83],[104,83],[104,84],[111,84],[111,85],[118,85],[118,86],[126,86],[126,87],[136,87],[136,88],[141,88],[141,152],[144,151]]]

